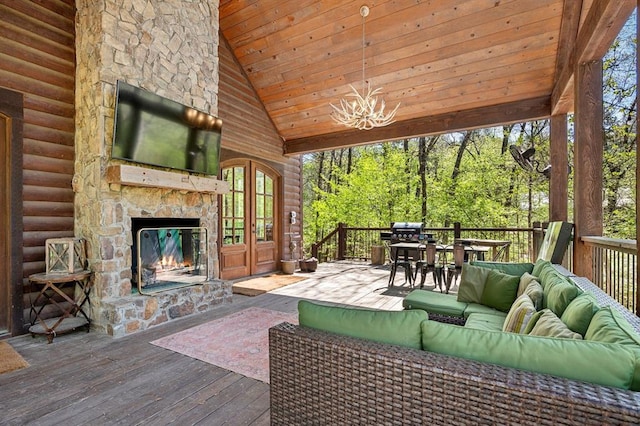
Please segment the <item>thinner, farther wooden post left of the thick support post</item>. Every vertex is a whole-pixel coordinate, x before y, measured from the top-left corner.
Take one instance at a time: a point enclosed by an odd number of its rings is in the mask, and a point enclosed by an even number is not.
[[[551,117],[551,180],[549,181],[549,221],[567,221],[569,154],[567,115]]]

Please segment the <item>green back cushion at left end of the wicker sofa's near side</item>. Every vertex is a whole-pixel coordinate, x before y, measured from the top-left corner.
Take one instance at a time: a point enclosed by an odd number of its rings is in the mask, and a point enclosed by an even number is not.
[[[390,345],[421,348],[420,323],[428,318],[421,310],[380,311],[298,302],[301,326]]]

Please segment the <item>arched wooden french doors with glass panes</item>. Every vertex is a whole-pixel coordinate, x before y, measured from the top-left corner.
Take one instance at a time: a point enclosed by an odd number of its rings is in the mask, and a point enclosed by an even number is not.
[[[280,176],[249,160],[222,165],[230,192],[222,196],[220,278],[234,279],[278,268]]]

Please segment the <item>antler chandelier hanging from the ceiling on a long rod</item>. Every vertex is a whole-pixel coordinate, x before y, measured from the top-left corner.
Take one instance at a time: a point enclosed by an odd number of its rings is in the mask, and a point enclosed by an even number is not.
[[[400,104],[396,105],[393,111],[384,112],[385,103],[384,99],[380,101],[380,107],[378,107],[377,95],[382,91],[382,88],[371,89],[371,84],[365,80],[364,77],[364,21],[369,16],[369,8],[362,6],[360,8],[360,15],[362,16],[362,94],[356,90],[355,87],[349,85],[353,93],[345,95],[346,97],[353,98],[351,101],[347,99],[340,99],[340,107],[338,108],[334,104],[330,104],[333,111],[331,111],[331,118],[338,124],[345,125],[347,127],[353,127],[360,130],[370,130],[374,127],[383,127],[394,122],[396,111]]]

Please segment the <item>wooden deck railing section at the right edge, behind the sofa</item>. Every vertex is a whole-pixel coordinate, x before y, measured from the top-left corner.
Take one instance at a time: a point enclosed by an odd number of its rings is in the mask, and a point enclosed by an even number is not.
[[[591,247],[591,281],[631,312],[640,316],[636,240],[582,237]]]

